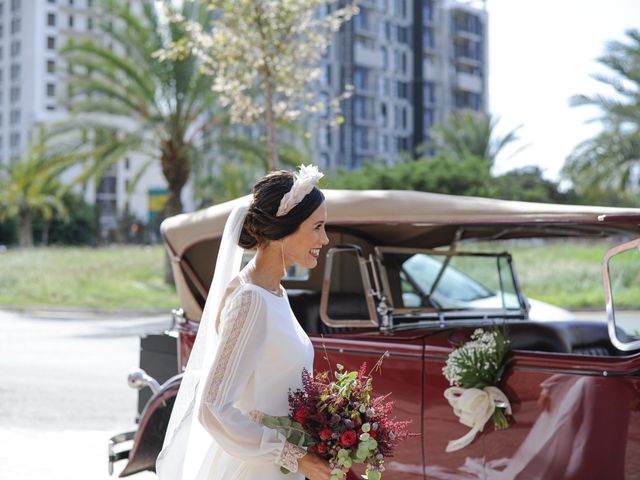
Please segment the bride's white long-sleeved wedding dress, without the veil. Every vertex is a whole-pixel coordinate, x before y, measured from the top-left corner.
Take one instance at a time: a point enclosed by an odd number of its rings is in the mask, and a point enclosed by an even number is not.
[[[289,413],[289,389],[302,387],[303,368],[313,372],[313,345],[284,289],[278,296],[249,283],[244,272],[238,278],[224,302],[220,346],[198,412],[221,447],[208,456],[201,478],[302,480],[300,474],[284,475],[280,467],[295,472],[306,451],[259,419],[262,413]]]

